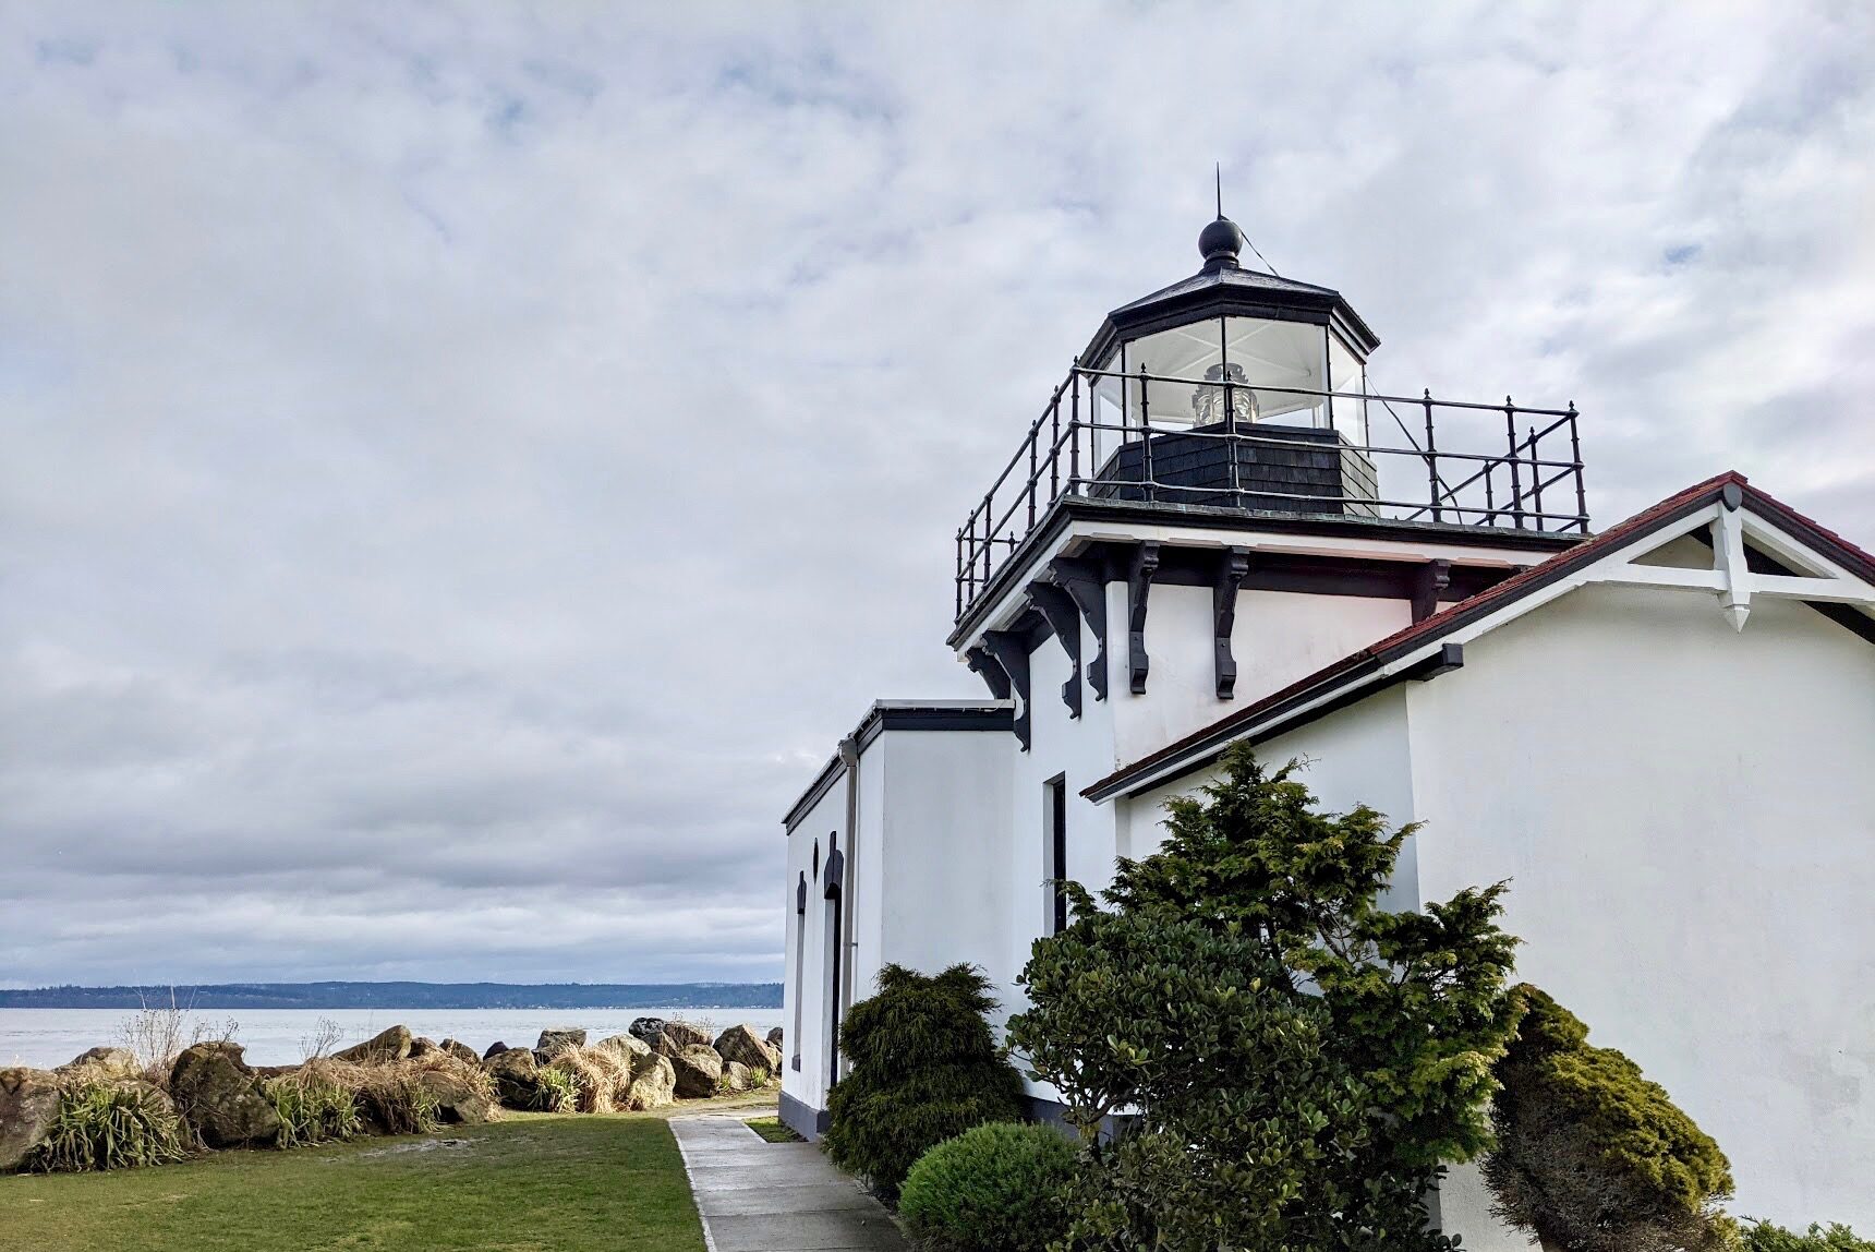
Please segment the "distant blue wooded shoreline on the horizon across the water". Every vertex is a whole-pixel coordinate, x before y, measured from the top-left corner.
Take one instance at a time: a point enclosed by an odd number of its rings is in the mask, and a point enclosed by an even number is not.
[[[148,987],[0,987],[0,1008],[780,1008],[778,982],[231,982]]]

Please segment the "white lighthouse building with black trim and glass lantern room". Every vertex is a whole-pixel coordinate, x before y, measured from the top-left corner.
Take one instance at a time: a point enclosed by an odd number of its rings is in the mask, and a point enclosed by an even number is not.
[[[1592,535],[1573,405],[1369,396],[1346,300],[1239,248],[1108,315],[960,529],[992,698],[874,706],[789,809],[784,1117],[823,1126],[887,961],[1016,1012],[1052,880],[1249,740],[1425,824],[1395,907],[1509,878],[1519,976],[1718,1137],[1734,1211],[1875,1231],[1875,557],[1740,475]],[[1526,1246],[1466,1169],[1440,1207]]]

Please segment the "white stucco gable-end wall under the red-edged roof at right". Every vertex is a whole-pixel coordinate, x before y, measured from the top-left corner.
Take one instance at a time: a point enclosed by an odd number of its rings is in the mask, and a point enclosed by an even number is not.
[[[1875,648],[1603,586],[1406,695],[1423,897],[1511,880],[1519,974],[1719,1141],[1734,1213],[1875,1229]],[[1446,1222],[1524,1246],[1464,1177]]]

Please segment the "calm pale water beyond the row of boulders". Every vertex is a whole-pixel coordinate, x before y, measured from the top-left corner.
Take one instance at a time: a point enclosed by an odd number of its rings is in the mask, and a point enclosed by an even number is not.
[[[126,1008],[0,1008],[0,1068],[30,1064],[51,1068],[71,1061],[88,1047],[120,1042],[120,1027],[131,1015]],[[394,1025],[411,1027],[441,1042],[458,1038],[476,1051],[495,1040],[529,1046],[542,1027],[585,1027],[589,1038],[622,1034],[634,1017],[684,1017],[722,1031],[746,1021],[761,1034],[782,1025],[778,1008],[276,1008],[276,1010],[197,1010],[191,1021],[216,1027],[234,1019],[234,1040],[248,1046],[248,1064],[296,1064],[304,1059],[304,1040],[319,1029],[319,1019],[339,1025],[339,1047],[371,1038]]]

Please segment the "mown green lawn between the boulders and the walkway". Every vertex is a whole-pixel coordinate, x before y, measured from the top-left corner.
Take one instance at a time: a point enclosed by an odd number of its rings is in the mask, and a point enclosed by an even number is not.
[[[703,1252],[703,1231],[664,1119],[510,1113],[424,1137],[0,1175],[0,1248]]]

